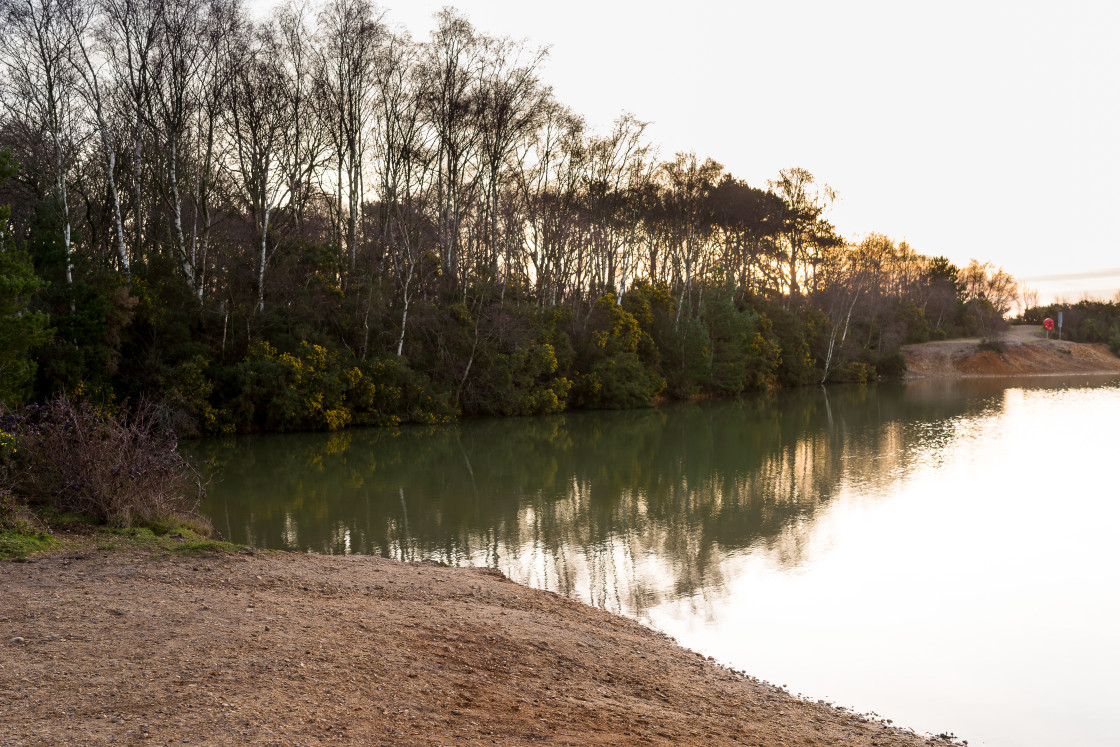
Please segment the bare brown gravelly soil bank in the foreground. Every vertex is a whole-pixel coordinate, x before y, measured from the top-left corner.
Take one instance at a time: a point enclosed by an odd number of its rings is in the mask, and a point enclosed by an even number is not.
[[[0,744],[943,744],[496,572],[86,547],[0,564]]]

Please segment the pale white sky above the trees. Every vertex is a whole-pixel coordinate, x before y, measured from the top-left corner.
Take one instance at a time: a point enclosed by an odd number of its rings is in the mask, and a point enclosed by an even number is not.
[[[848,239],[991,261],[1043,301],[1120,291],[1120,2],[381,2],[418,40],[445,4],[548,46],[595,129],[631,112],[663,158],[753,186],[808,169]]]

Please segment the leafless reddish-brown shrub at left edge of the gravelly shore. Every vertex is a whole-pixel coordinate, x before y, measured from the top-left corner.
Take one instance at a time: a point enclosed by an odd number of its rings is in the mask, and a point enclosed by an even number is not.
[[[198,471],[147,402],[114,415],[57,399],[3,415],[0,430],[17,439],[11,487],[30,505],[91,515],[111,526],[187,522],[211,529],[198,514],[206,495]]]

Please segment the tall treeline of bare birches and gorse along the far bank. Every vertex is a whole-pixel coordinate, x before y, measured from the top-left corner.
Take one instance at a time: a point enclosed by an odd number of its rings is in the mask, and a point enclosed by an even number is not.
[[[0,399],[159,398],[185,431],[624,408],[867,381],[1015,297],[592,132],[545,52],[365,0],[0,0]],[[18,164],[18,169],[17,169]],[[0,177],[2,180],[2,177]]]

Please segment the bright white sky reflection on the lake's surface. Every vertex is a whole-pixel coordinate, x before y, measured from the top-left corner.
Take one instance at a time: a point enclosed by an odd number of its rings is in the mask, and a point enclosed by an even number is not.
[[[792,572],[759,548],[725,567],[706,618],[672,600],[648,617],[764,679],[973,745],[1116,744],[1118,422],[1117,386],[1009,389],[908,441],[905,469],[842,482],[791,530]]]

